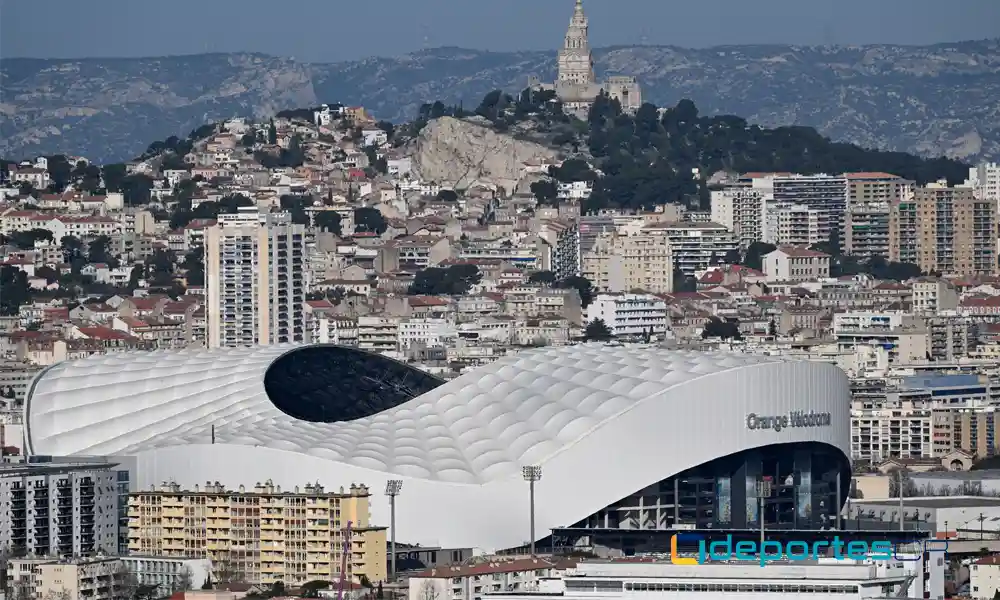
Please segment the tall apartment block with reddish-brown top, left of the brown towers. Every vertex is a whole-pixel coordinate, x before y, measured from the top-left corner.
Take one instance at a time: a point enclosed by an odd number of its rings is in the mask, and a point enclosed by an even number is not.
[[[889,256],[889,207],[912,192],[913,182],[890,173],[848,173],[844,254]]]

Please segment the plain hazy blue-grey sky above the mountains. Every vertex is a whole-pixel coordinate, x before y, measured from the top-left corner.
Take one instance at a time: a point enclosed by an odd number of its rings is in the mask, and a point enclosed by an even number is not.
[[[0,0],[0,57],[555,48],[572,0]],[[595,46],[1000,37],[1000,0],[584,0]]]

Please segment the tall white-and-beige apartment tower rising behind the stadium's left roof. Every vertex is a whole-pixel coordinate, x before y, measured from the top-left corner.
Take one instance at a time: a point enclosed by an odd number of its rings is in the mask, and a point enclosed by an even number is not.
[[[305,238],[287,213],[219,215],[205,234],[209,348],[305,340]]]

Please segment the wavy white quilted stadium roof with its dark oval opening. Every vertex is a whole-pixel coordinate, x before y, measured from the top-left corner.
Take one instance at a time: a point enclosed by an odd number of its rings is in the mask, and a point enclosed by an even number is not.
[[[698,377],[767,356],[604,345],[522,352],[443,383],[354,348],[110,354],[33,383],[29,447],[134,454],[183,444],[264,446],[402,476],[482,483],[572,445]]]

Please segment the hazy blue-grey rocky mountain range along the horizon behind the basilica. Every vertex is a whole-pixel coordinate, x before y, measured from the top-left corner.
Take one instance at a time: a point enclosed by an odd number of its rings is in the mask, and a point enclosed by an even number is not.
[[[1000,40],[936,46],[618,47],[600,76],[636,75],[658,105],[764,126],[807,125],[838,141],[967,160],[1000,158]],[[493,89],[555,76],[554,52],[438,48],[397,58],[299,64],[259,54],[0,61],[0,155],[122,160],[206,121],[318,102],[412,117],[427,101],[472,108]]]

